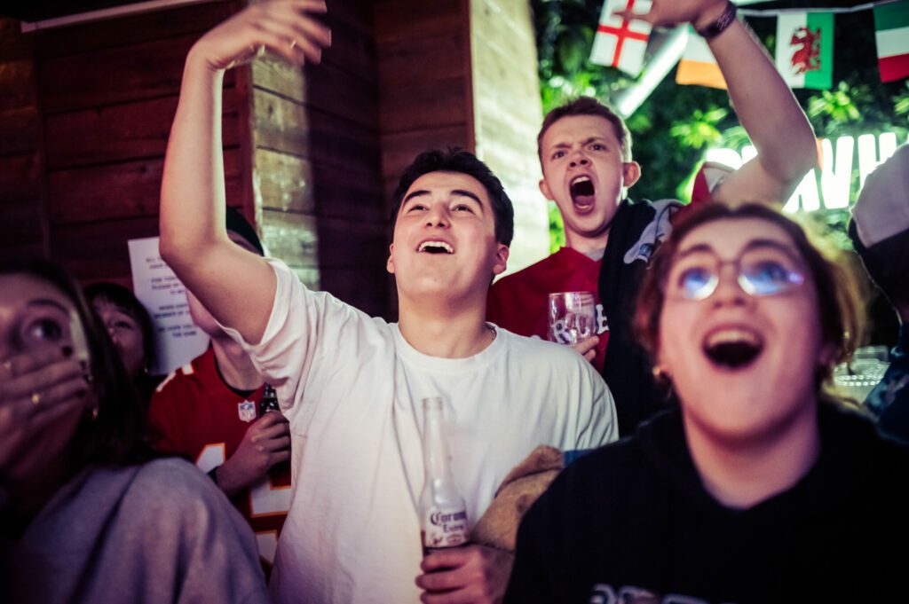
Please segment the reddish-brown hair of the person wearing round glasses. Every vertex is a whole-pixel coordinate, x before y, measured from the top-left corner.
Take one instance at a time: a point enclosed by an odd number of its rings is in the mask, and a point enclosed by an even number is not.
[[[655,356],[659,345],[664,283],[675,262],[675,252],[685,235],[703,224],[717,220],[757,218],[779,226],[792,238],[814,280],[822,338],[825,344],[833,345],[836,351],[836,358],[831,360],[829,366],[822,368],[817,376],[820,394],[821,385],[833,375],[834,365],[846,361],[864,335],[864,322],[859,314],[860,290],[849,262],[842,257],[843,253],[820,239],[812,241],[801,225],[763,203],[746,203],[734,208],[724,203],[706,203],[696,209],[685,210],[684,215],[680,216],[681,220],[673,226],[672,235],[654,254],[654,260],[641,283],[634,330],[644,349]]]

